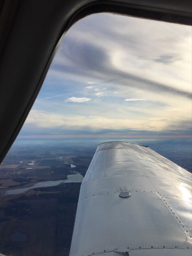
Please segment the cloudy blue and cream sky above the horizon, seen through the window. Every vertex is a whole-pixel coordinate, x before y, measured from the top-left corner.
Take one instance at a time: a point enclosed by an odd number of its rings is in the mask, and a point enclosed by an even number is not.
[[[191,70],[191,26],[87,16],[64,34],[20,137],[190,137]]]

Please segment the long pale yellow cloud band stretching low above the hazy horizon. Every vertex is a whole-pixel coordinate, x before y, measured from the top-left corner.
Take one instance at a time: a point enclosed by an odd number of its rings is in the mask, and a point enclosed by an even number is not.
[[[191,129],[191,123],[189,121],[178,122],[173,119],[162,118],[117,118],[117,117],[102,117],[100,115],[67,115],[67,114],[55,114],[45,111],[38,111],[33,109],[30,111],[28,118],[26,119],[25,126],[34,128],[53,129],[59,128],[60,130],[87,130],[87,131],[100,131],[100,130],[151,130],[151,131],[165,131],[170,129],[183,130],[183,124],[185,129]]]

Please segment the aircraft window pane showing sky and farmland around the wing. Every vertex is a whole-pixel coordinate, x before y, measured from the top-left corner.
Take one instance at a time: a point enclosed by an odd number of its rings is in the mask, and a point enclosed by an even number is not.
[[[147,145],[192,171],[191,45],[190,26],[110,13],[66,32],[0,165],[0,253],[68,255],[99,143]]]

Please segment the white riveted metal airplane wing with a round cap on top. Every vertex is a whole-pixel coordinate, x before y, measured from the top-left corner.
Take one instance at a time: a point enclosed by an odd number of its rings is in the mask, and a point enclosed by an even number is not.
[[[70,256],[191,256],[191,180],[147,146],[98,145],[81,184]]]

